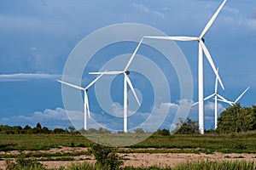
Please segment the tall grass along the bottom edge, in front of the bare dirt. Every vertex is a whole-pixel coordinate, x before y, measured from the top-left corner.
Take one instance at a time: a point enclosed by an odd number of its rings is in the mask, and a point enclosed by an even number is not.
[[[7,170],[46,170],[50,168],[43,167],[42,164],[36,161],[18,161],[16,163],[8,162]],[[83,162],[73,163],[68,167],[54,168],[52,170],[102,170],[101,167]],[[256,164],[253,161],[196,161],[187,162],[178,165],[177,167],[121,167],[119,170],[256,170]],[[118,170],[118,169],[115,169]]]

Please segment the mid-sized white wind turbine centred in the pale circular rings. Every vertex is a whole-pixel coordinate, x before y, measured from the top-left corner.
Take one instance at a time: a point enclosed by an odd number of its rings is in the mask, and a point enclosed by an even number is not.
[[[140,47],[141,43],[143,42],[143,38],[142,40],[139,42],[139,44],[137,45],[137,48],[135,49],[135,51],[133,52],[133,54],[131,55],[131,58],[129,59],[128,63],[125,65],[125,69],[123,71],[105,71],[105,72],[90,72],[89,74],[102,74],[102,75],[119,75],[119,74],[123,74],[124,75],[124,132],[127,133],[128,132],[128,95],[127,95],[127,83],[131,88],[131,91],[135,97],[135,99],[137,100],[137,104],[140,104],[139,99],[137,98],[137,94],[132,86],[131,80],[128,77],[128,75],[130,74],[129,71],[127,71],[128,67],[131,65],[132,60],[134,59],[138,48]]]

